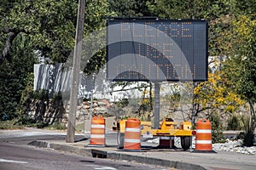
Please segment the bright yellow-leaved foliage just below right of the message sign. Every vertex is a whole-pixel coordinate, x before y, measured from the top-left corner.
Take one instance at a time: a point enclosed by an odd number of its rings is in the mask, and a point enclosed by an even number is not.
[[[194,88],[194,102],[201,106],[197,113],[207,109],[219,109],[233,113],[244,104],[241,97],[229,88],[232,83],[225,77],[223,71],[209,73],[208,75],[207,82],[201,82]]]

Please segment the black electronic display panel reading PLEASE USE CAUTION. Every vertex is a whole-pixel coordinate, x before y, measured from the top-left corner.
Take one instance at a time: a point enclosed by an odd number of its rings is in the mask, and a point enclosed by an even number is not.
[[[207,21],[107,20],[111,81],[207,81]]]

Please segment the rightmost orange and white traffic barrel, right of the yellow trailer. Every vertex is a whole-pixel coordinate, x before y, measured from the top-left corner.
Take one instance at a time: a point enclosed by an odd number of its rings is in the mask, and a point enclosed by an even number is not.
[[[215,152],[212,150],[212,123],[199,119],[196,122],[195,150],[200,152]]]

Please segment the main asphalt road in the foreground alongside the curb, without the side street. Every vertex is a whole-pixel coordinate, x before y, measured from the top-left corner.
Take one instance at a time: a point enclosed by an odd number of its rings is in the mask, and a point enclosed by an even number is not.
[[[105,170],[147,170],[164,169],[127,161],[112,161],[92,157],[76,156],[61,153],[55,150],[38,149],[32,146],[0,143],[0,169],[1,170],[79,170],[79,169],[105,169]]]

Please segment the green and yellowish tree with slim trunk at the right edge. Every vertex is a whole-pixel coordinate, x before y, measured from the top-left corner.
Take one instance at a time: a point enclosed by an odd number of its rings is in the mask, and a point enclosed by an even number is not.
[[[256,127],[254,105],[256,102],[256,20],[253,15],[241,15],[233,20],[230,32],[230,57],[224,63],[224,71],[234,84],[237,94],[247,100],[249,114],[243,122],[246,130],[245,145],[253,145]]]

